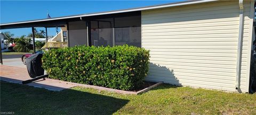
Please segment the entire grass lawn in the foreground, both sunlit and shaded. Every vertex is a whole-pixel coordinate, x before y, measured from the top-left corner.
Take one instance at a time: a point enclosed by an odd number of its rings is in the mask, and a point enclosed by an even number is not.
[[[141,95],[74,87],[61,92],[1,81],[1,111],[15,114],[256,114],[256,95],[160,85]]]

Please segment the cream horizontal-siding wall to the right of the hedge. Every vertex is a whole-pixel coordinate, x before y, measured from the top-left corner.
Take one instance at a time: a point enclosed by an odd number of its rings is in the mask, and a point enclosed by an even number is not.
[[[251,2],[244,3],[241,91],[247,92]],[[150,50],[146,80],[236,91],[238,1],[142,11],[142,47]]]

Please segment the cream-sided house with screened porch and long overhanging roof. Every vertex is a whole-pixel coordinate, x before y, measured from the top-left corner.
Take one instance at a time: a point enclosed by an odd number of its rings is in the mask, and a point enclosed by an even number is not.
[[[249,92],[254,3],[186,1],[0,27],[66,27],[69,47],[143,47],[151,56],[146,80]]]

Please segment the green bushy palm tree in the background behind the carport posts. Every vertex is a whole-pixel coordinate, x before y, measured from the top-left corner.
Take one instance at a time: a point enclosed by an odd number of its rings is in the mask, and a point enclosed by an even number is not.
[[[25,35],[20,38],[15,39],[16,45],[13,47],[15,52],[28,52],[33,50],[33,45],[31,44],[31,39],[26,38]]]

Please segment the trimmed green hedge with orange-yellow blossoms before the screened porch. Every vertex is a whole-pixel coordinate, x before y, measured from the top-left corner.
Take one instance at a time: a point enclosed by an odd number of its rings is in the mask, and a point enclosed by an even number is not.
[[[52,79],[122,90],[143,84],[149,51],[134,46],[53,49],[43,55],[43,68]]]

